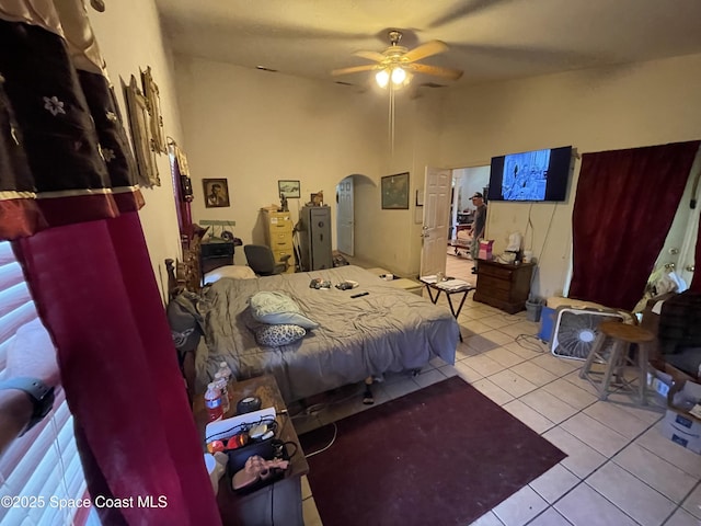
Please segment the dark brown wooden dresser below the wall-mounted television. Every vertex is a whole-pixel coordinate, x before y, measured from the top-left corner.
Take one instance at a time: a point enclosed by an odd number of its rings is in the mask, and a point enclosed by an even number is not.
[[[535,263],[514,265],[480,260],[478,288],[473,299],[509,315],[524,310],[535,268]]]

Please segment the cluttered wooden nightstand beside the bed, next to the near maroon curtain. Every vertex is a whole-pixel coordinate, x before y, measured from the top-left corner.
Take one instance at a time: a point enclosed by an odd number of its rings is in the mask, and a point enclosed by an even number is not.
[[[235,414],[237,401],[245,397],[258,397],[263,408],[274,407],[277,413],[285,410],[285,402],[280,395],[275,378],[271,375],[238,381],[232,387],[232,408],[225,418]],[[207,411],[204,397],[198,395],[193,404],[195,422],[200,436],[205,436],[207,425]],[[277,416],[279,426],[277,438],[283,442],[297,444],[297,453],[291,457],[285,478],[277,482],[261,488],[254,493],[239,495],[230,488],[231,481],[222,477],[219,481],[217,504],[221,513],[221,521],[226,525],[298,525],[302,526],[302,492],[301,477],[309,472],[309,465],[304,458],[288,414]],[[204,441],[203,441],[204,442]],[[290,450],[291,453],[291,450]]]

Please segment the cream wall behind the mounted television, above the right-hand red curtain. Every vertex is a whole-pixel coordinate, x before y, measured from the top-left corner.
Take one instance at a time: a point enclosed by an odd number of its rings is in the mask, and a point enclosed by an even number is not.
[[[449,91],[439,163],[483,165],[493,156],[567,145],[585,153],[699,139],[700,92],[701,55]],[[512,231],[526,233],[530,216],[524,243],[540,260],[540,296],[562,293],[568,274],[579,164],[566,203],[490,203],[487,236],[497,253]]]

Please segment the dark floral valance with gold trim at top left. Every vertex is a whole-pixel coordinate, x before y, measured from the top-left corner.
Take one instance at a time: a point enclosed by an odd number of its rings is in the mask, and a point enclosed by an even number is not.
[[[0,240],[143,197],[82,0],[0,0]]]

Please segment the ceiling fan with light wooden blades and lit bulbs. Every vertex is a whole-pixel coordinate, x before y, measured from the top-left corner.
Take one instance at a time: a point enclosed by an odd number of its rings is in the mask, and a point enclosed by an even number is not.
[[[402,33],[397,30],[389,32],[390,47],[382,53],[378,52],[355,52],[354,55],[377,64],[366,66],[353,66],[349,68],[334,69],[332,76],[357,73],[359,71],[377,71],[375,80],[380,88],[392,85],[400,88],[410,82],[412,73],[424,73],[433,77],[443,77],[450,80],[458,80],[462,77],[459,69],[443,68],[438,66],[429,66],[418,64],[416,60],[438,55],[448,50],[448,45],[441,41],[429,41],[414,49],[407,49],[400,46]],[[391,83],[390,83],[391,81]]]

